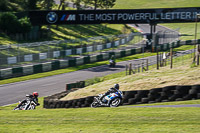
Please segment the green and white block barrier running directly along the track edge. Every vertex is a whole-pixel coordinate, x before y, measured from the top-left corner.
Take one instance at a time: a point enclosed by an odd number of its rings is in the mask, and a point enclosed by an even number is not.
[[[200,42],[199,40],[197,41]],[[190,45],[191,43],[194,43],[194,42],[195,42],[194,40],[188,40],[188,41],[183,41],[183,42],[177,41],[176,43],[163,44],[163,46],[161,46],[160,49],[166,50],[166,49],[169,49],[170,47],[177,47],[177,46],[186,45],[186,44]],[[99,53],[97,55],[79,56],[79,57],[70,58],[68,60],[57,60],[57,61],[41,63],[41,64],[36,64],[36,65],[22,66],[22,67],[17,67],[17,68],[0,69],[0,80],[6,79],[6,78],[12,78],[12,77],[19,77],[23,75],[41,73],[41,72],[46,72],[46,71],[51,71],[51,70],[57,70],[60,68],[74,67],[77,65],[93,63],[96,61],[107,60],[111,58],[112,55],[115,55],[116,58],[120,58],[120,57],[129,56],[133,54],[138,54],[141,52],[142,52],[142,48],[130,48],[126,50],[117,50],[115,52],[110,51],[107,53]],[[33,58],[35,58],[35,56]]]

